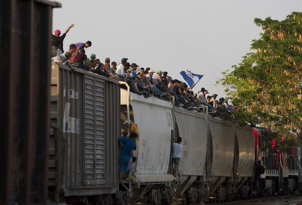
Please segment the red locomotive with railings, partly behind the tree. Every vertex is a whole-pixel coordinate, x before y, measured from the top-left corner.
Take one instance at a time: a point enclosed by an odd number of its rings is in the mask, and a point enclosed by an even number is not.
[[[255,147],[255,163],[258,160],[265,167],[265,173],[261,175],[261,183],[258,185],[258,194],[263,197],[274,194],[294,194],[301,190],[301,148],[292,147],[288,152],[280,151],[280,142],[272,139],[272,146],[266,152],[260,151],[258,146],[264,145],[265,137],[271,130],[263,127],[254,128],[254,133],[258,138]],[[281,137],[281,141],[284,138]]]

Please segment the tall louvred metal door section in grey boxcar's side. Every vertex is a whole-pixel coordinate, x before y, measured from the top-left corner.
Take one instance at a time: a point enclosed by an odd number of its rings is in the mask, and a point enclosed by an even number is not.
[[[104,184],[104,80],[85,77],[85,184]]]

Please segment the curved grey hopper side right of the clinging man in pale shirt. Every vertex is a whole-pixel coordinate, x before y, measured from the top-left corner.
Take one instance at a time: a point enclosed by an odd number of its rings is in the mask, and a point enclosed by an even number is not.
[[[207,127],[204,115],[177,108],[175,117],[183,145],[179,169],[182,175],[202,176],[207,153]]]

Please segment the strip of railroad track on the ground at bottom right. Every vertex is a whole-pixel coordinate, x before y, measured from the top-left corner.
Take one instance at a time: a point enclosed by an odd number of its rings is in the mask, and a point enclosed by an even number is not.
[[[276,200],[276,199],[282,199],[282,200],[286,200],[286,199],[290,199],[290,198],[294,198],[294,197],[301,197],[301,194],[294,194],[294,195],[284,195],[284,196],[276,196],[276,197],[267,197],[267,198],[262,198],[262,197],[255,197],[253,199],[247,199],[247,200],[239,200],[239,201],[229,201],[229,202],[225,202],[225,203],[211,203],[211,204],[207,204],[207,205],[232,205],[232,204],[246,204],[246,203],[261,203],[261,202],[265,202],[265,201],[271,201],[271,200]]]

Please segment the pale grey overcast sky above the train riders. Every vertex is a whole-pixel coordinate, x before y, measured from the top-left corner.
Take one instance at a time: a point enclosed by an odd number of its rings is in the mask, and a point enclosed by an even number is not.
[[[179,0],[57,0],[53,9],[53,31],[75,24],[64,40],[69,44],[92,42],[86,50],[104,63],[123,57],[143,68],[167,71],[184,81],[180,71],[190,70],[204,77],[201,87],[218,98],[226,97],[222,86],[214,86],[221,72],[231,70],[250,52],[252,39],[262,30],[254,18],[283,20],[300,11],[302,1],[179,1]]]

